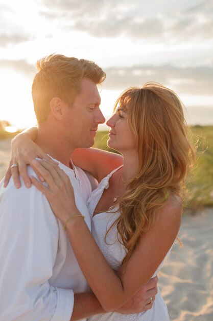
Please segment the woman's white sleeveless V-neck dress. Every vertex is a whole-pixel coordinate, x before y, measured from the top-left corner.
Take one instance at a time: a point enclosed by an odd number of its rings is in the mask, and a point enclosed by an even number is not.
[[[121,166],[119,167],[121,168]],[[95,189],[91,196],[87,201],[87,206],[89,209],[89,213],[91,216],[91,227],[92,227],[92,235],[96,240],[100,250],[104,254],[108,264],[111,266],[113,270],[118,270],[122,264],[123,258],[126,255],[126,248],[119,242],[116,225],[110,230],[107,234],[106,242],[105,235],[106,231],[112,225],[112,223],[119,217],[120,213],[99,213],[92,217],[94,209],[96,208],[99,199],[101,198],[104,189],[109,187],[109,178],[111,175],[118,170],[119,168],[112,171],[105,178],[102,179],[97,189]],[[170,249],[171,251],[171,249]],[[170,253],[167,253],[167,255]],[[164,258],[165,259],[165,258]],[[162,267],[163,262],[158,267],[157,271],[153,275],[156,276],[160,268]],[[160,290],[158,289],[158,293],[155,296],[155,301],[153,303],[153,307],[151,310],[135,313],[135,314],[120,314],[116,312],[109,312],[105,314],[98,314],[89,317],[87,320],[89,321],[133,321],[133,320],[143,320],[143,321],[169,321],[169,314],[167,310],[167,306],[165,305]]]

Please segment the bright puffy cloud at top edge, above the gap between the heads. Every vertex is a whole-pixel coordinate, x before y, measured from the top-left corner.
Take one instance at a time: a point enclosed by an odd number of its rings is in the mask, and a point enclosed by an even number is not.
[[[44,3],[48,11],[43,11],[43,14],[54,19],[61,16],[66,19],[65,28],[73,27],[97,37],[115,37],[124,34],[132,37],[157,38],[162,33],[161,18],[147,19],[144,13],[138,15],[137,5],[125,1],[82,0],[79,3],[77,0],[71,2],[44,0]],[[141,6],[140,2],[138,4]]]

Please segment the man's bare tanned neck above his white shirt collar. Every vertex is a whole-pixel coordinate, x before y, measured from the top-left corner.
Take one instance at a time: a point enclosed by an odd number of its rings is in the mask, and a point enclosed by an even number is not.
[[[46,154],[59,160],[67,167],[70,165],[70,156],[74,152],[74,148],[67,147],[60,132],[55,130],[49,130],[45,126],[39,126],[35,143],[43,149]]]

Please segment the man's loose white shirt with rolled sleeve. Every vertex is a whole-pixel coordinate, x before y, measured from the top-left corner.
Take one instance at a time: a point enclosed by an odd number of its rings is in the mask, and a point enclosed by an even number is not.
[[[59,163],[74,187],[76,204],[91,222],[85,205],[91,186],[85,173]],[[35,175],[28,167],[29,175]],[[0,183],[0,321],[69,321],[74,293],[87,291],[61,222],[46,197],[23,181]]]

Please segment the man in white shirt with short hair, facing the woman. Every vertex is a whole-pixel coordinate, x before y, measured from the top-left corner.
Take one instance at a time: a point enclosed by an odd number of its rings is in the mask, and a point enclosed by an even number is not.
[[[105,73],[93,62],[62,55],[41,59],[37,69],[32,86],[38,122],[35,142],[69,176],[77,207],[90,228],[85,204],[91,186],[70,155],[78,147],[92,146],[98,125],[105,121],[97,89]],[[117,158],[115,167],[116,162]],[[31,167],[28,175],[36,175]],[[16,189],[12,181],[6,188],[1,184],[0,321],[69,321],[103,313],[88,292],[63,226],[45,196],[34,186]],[[141,292],[144,309],[155,285],[152,281]],[[138,295],[119,312],[137,312],[141,303],[136,305],[136,300]]]

